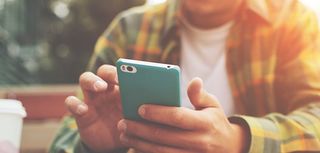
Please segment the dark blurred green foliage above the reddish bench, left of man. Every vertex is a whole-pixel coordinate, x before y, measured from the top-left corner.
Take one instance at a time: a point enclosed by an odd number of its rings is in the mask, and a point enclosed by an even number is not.
[[[0,85],[76,83],[85,71],[95,41],[115,15],[144,3],[145,0],[4,0],[2,9],[0,3],[0,59],[10,59],[6,60],[10,61],[7,65],[17,66],[10,72],[0,66],[0,71],[25,79],[13,83],[0,78]]]

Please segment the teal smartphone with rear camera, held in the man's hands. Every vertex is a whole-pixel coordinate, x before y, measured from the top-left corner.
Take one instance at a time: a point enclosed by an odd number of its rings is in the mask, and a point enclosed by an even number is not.
[[[116,62],[124,118],[141,121],[143,104],[180,107],[180,68],[120,58]]]

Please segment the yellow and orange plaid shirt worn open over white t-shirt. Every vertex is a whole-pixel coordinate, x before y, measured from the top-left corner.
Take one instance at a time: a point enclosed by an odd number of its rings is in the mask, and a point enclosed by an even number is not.
[[[297,0],[246,0],[227,40],[227,71],[249,152],[320,152],[320,32]],[[99,38],[90,70],[119,57],[180,63],[179,2],[133,8]],[[190,61],[192,62],[192,61]],[[108,144],[106,144],[108,145]],[[88,152],[66,118],[50,152]]]

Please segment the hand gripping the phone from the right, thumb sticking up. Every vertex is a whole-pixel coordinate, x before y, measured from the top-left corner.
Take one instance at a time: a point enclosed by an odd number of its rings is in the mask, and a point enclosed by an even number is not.
[[[188,96],[196,110],[143,105],[139,114],[149,122],[121,120],[121,142],[145,153],[236,153],[248,143],[244,129],[231,124],[214,96],[194,79]]]

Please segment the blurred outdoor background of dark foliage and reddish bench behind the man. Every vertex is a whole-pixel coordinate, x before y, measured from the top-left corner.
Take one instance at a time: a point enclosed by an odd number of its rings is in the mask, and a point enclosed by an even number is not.
[[[0,98],[22,101],[28,113],[21,152],[46,152],[66,112],[63,101],[76,94],[95,41],[114,16],[164,1],[0,0]],[[319,0],[301,1],[320,17]]]

